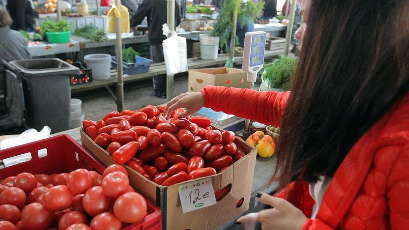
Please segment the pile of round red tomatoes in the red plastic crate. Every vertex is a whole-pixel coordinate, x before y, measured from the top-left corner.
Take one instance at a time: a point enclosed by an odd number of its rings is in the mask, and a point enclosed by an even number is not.
[[[86,169],[20,173],[0,185],[1,230],[119,230],[146,215],[146,201],[121,165],[102,176]]]

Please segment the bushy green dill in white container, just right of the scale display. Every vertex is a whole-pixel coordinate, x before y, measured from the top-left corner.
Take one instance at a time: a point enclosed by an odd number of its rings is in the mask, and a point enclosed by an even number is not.
[[[291,56],[280,56],[264,66],[261,91],[288,91],[294,75],[297,59]]]

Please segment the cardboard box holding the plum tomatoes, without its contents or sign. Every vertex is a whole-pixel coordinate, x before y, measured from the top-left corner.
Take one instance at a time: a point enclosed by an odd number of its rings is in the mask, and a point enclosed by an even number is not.
[[[81,130],[81,141],[83,146],[105,165],[115,164],[109,153],[95,144],[84,130]],[[183,213],[178,187],[179,185],[190,183],[193,180],[164,187],[147,180],[144,176],[128,166],[124,166],[128,171],[131,185],[161,207],[162,228],[164,230],[214,230],[233,220],[249,208],[257,151],[255,148],[238,139],[236,139],[234,143],[237,147],[243,148],[247,155],[222,173],[208,176],[211,178],[214,191],[231,185],[230,192],[220,201],[217,201],[215,205],[192,212]],[[244,198],[242,205],[236,207],[242,198]]]

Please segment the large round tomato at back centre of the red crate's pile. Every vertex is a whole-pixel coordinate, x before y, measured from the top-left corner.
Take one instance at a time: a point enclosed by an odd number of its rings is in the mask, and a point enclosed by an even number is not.
[[[92,186],[92,176],[86,169],[72,171],[67,179],[67,186],[74,194],[85,193]]]

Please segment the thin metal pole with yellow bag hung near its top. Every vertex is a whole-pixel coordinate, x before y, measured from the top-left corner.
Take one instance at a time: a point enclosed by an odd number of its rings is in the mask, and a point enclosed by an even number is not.
[[[115,0],[115,4],[120,12],[121,0]],[[117,65],[118,65],[118,81],[117,81],[117,111],[123,110],[123,69],[122,69],[122,36],[121,36],[121,18],[117,18]]]

